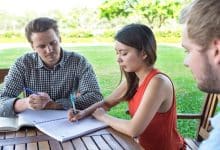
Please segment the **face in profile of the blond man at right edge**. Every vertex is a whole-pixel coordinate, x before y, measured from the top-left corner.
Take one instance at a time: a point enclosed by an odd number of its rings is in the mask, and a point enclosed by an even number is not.
[[[204,49],[188,37],[187,27],[184,28],[182,46],[186,49],[184,65],[189,67],[200,90],[205,92],[220,92],[220,77],[218,66],[214,63],[215,48]]]

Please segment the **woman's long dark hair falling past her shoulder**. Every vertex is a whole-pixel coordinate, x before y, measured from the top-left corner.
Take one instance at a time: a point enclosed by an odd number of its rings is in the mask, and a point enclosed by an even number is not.
[[[147,54],[146,64],[148,66],[154,65],[157,59],[156,40],[153,32],[146,25],[129,24],[118,31],[115,40],[137,49],[138,53],[144,52]],[[125,75],[128,89],[120,99],[130,100],[137,90],[139,79],[134,72],[125,72],[121,69],[121,73],[121,78],[123,74]]]

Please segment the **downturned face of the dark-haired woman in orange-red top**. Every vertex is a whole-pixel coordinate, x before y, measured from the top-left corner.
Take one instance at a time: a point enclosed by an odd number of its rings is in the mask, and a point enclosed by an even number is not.
[[[119,41],[115,43],[117,62],[126,72],[138,72],[143,66],[146,66],[147,55],[144,52],[138,52],[134,47],[127,46]]]

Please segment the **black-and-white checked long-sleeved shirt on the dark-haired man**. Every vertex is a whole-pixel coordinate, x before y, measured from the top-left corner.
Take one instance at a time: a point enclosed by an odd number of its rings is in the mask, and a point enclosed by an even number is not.
[[[28,53],[18,58],[10,68],[0,92],[0,116],[14,116],[13,105],[24,87],[36,92],[46,92],[51,99],[71,108],[69,96],[79,92],[75,105],[85,109],[101,101],[102,95],[92,66],[74,52],[61,51],[61,61],[48,69],[37,53]]]

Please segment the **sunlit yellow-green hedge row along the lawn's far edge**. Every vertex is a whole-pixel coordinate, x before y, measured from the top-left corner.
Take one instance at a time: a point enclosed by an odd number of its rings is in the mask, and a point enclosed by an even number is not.
[[[93,34],[89,30],[71,30],[69,32],[61,32],[62,42],[77,42],[77,43],[88,43],[88,42],[112,42],[114,41],[115,29],[103,30],[100,34]],[[162,43],[177,43],[181,39],[181,31],[154,31],[157,42]],[[0,34],[1,43],[13,43],[13,42],[26,42],[24,34],[20,32],[8,31],[4,34]]]

